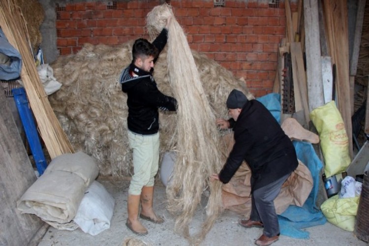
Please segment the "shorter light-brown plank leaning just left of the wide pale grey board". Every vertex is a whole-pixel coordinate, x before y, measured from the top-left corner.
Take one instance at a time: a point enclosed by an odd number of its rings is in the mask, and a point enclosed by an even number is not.
[[[306,127],[309,125],[309,107],[307,102],[307,86],[306,86],[306,75],[304,67],[304,57],[301,48],[301,43],[294,42],[290,44],[291,49],[291,62],[292,62],[292,74],[293,74],[293,86],[296,98],[299,98],[302,110],[304,111]],[[296,86],[298,88],[296,88]],[[296,90],[297,89],[297,90]],[[299,95],[296,97],[296,95]],[[296,108],[296,112],[298,109]]]

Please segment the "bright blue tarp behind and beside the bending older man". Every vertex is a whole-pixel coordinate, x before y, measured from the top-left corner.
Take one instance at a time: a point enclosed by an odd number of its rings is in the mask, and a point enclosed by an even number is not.
[[[280,95],[270,93],[257,98],[264,104],[272,115],[280,123]],[[303,228],[321,225],[327,222],[327,219],[315,205],[319,188],[319,172],[323,168],[323,163],[316,155],[311,143],[293,141],[297,158],[301,160],[310,170],[313,187],[303,207],[290,205],[286,211],[278,215],[280,234],[292,238],[308,239],[309,233]]]

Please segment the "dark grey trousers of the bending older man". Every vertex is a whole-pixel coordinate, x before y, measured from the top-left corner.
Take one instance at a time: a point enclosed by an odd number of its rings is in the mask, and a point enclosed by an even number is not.
[[[279,223],[276,208],[274,207],[274,199],[289,176],[290,174],[287,174],[277,181],[252,192],[250,219],[263,223],[263,234],[267,237],[274,237],[279,234]]]

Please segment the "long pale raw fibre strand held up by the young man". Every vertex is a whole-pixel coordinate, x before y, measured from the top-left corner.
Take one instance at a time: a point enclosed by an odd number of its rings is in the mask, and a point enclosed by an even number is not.
[[[202,88],[191,50],[184,32],[173,16],[170,5],[154,7],[148,14],[149,33],[161,30],[171,16],[168,32],[168,75],[178,100],[176,129],[176,163],[172,181],[167,186],[168,210],[177,215],[175,230],[192,244],[199,244],[222,211],[221,183],[209,176],[221,168],[218,152],[219,135],[215,114]],[[152,30],[154,29],[154,31]],[[201,202],[203,191],[210,187],[207,218],[202,230],[191,236],[189,224]]]

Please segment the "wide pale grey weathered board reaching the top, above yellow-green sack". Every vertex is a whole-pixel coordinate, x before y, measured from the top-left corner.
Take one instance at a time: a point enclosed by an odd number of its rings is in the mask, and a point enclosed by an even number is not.
[[[318,23],[318,1],[304,0],[307,95],[309,112],[324,105]]]

